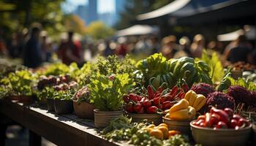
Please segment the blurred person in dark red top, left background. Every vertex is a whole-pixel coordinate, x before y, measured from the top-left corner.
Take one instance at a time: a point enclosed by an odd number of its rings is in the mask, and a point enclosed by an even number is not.
[[[73,32],[68,32],[67,42],[61,42],[58,50],[59,58],[61,58],[64,64],[71,64],[76,62],[77,64],[83,64],[82,50],[78,42],[73,42]]]

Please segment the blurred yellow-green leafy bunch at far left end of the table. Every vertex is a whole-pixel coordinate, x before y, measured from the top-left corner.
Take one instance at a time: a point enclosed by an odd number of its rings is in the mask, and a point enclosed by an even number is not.
[[[18,96],[31,96],[34,81],[33,74],[28,70],[12,72],[8,75],[12,91]]]

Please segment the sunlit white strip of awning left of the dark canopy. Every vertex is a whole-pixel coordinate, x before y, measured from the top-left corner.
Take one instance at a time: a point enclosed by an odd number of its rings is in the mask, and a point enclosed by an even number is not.
[[[167,4],[166,6],[161,7],[159,9],[156,9],[152,12],[147,12],[145,14],[138,15],[137,20],[146,20],[146,19],[151,19],[151,18],[158,18],[162,15],[168,15],[171,12],[175,12],[178,9],[181,9],[186,4],[188,4],[189,1],[191,1],[191,0],[176,0],[176,1],[173,1],[170,4]]]

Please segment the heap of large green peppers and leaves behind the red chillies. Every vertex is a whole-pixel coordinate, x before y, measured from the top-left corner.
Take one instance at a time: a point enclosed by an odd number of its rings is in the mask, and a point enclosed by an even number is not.
[[[210,67],[204,61],[195,61],[194,58],[182,57],[178,59],[166,58],[161,53],[154,54],[139,61],[138,69],[143,72],[143,76],[148,85],[149,80],[154,88],[159,88],[162,83],[167,83],[167,87],[173,87],[180,80],[185,80],[189,87],[194,82],[206,82],[212,84],[209,77]]]

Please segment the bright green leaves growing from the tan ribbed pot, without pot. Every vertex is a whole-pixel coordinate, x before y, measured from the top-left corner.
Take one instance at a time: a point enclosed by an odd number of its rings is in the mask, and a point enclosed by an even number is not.
[[[122,96],[129,93],[135,82],[129,74],[112,74],[106,76],[97,72],[91,77],[89,90],[94,107],[101,111],[120,110],[123,104]]]

